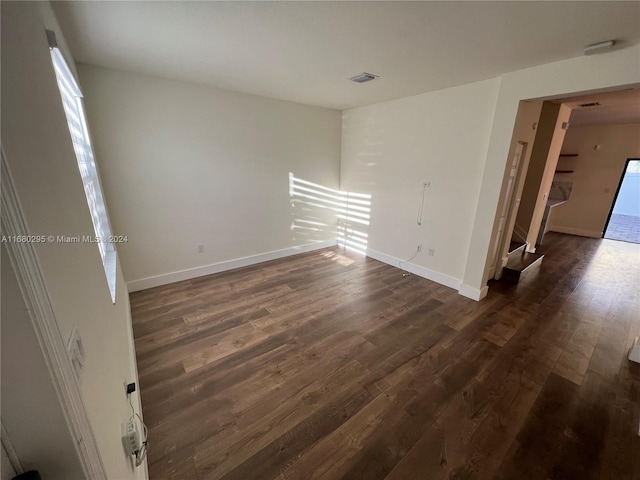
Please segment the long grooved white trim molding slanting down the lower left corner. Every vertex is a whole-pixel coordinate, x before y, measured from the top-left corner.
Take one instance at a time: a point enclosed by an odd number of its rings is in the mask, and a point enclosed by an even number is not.
[[[29,235],[4,150],[1,157],[2,231],[7,236]],[[8,242],[6,247],[85,477],[107,480],[35,249],[31,243],[17,242]]]

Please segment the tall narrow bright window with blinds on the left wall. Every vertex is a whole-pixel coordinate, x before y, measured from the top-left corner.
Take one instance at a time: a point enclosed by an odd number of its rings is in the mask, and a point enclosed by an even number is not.
[[[49,38],[49,47],[51,50],[51,60],[58,80],[58,88],[62,97],[62,105],[64,113],[67,117],[69,125],[69,133],[73,142],[73,149],[78,160],[78,169],[84,184],[84,193],[87,197],[87,204],[91,212],[91,220],[93,221],[93,229],[95,231],[95,244],[100,250],[104,273],[107,276],[107,284],[111,301],[116,301],[116,251],[111,242],[111,228],[109,226],[109,217],[107,216],[107,207],[104,203],[102,188],[100,187],[100,179],[98,178],[98,170],[96,168],[95,157],[93,155],[93,147],[89,138],[87,129],[87,119],[82,104],[82,92],[76,82],[75,77],[71,73],[67,62],[62,56],[62,52],[57,47],[55,35],[51,31],[47,31]],[[75,233],[70,233],[74,235]]]

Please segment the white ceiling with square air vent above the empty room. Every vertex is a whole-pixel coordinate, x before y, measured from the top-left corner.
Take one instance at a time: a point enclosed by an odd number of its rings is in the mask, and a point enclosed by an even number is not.
[[[640,42],[638,1],[52,3],[76,61],[337,109]]]

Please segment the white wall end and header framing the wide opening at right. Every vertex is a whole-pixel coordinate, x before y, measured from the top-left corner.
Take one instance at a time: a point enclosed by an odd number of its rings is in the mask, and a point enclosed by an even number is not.
[[[496,210],[506,188],[505,170],[518,104],[640,83],[640,45],[504,74],[475,214],[463,286],[481,298],[489,274],[489,244],[497,231]]]

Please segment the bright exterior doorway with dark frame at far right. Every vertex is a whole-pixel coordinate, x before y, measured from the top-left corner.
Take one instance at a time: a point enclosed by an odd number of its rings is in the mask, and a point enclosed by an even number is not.
[[[640,243],[640,159],[629,158],[622,171],[603,238]]]

